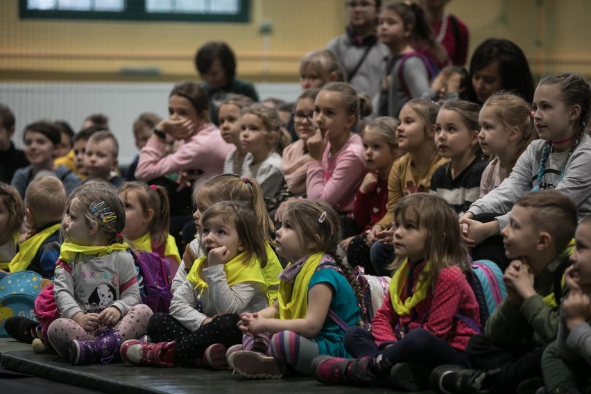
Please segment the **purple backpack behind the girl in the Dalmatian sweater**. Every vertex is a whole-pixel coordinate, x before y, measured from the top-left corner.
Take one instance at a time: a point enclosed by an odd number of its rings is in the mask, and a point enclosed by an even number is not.
[[[154,313],[168,314],[172,300],[169,262],[156,252],[134,250],[132,256],[135,266],[139,268],[138,285],[142,302]]]

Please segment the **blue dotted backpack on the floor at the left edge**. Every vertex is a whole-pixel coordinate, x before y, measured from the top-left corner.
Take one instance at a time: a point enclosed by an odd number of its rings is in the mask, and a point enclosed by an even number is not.
[[[33,271],[10,273],[0,280],[0,337],[8,338],[4,321],[12,316],[35,320],[35,297],[43,277]]]

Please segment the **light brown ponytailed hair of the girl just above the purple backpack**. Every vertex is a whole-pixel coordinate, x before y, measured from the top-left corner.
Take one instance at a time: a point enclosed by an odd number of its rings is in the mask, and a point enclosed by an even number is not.
[[[148,209],[154,212],[152,220],[148,223],[148,232],[155,248],[166,245],[170,227],[170,203],[166,189],[157,185],[148,186],[144,182],[137,181],[125,182],[117,189],[117,195],[126,196],[128,193],[135,193],[144,214]]]

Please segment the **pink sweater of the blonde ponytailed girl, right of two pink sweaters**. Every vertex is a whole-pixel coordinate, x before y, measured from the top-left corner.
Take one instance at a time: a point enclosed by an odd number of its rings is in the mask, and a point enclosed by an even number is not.
[[[322,161],[309,164],[307,197],[326,201],[336,212],[351,212],[355,193],[366,170],[361,137],[354,134],[336,155],[329,157],[329,153],[330,143]]]

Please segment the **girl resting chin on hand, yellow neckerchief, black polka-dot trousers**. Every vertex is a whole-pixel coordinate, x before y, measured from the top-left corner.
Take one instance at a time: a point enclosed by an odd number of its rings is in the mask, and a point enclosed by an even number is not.
[[[205,255],[175,291],[171,314],[150,319],[148,335],[154,343],[127,341],[121,345],[121,358],[132,364],[170,367],[199,366],[205,357],[208,366],[227,368],[219,361],[225,361],[227,348],[242,340],[239,314],[268,306],[262,270],[266,248],[258,234],[255,214],[243,203],[224,201],[203,212]],[[198,302],[203,313],[194,308]]]

